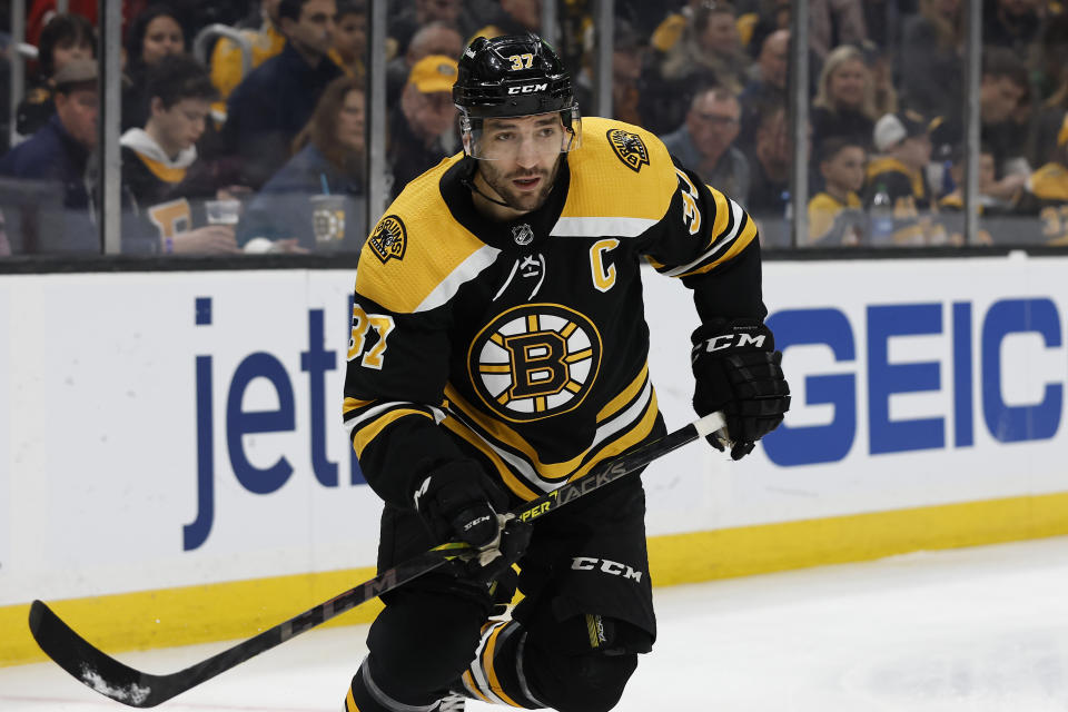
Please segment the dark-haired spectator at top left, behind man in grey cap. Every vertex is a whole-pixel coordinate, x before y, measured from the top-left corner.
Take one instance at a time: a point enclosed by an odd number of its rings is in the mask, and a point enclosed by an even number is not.
[[[22,136],[34,134],[56,113],[52,77],[67,63],[97,56],[97,34],[80,14],[55,14],[41,30],[37,47],[38,80],[19,102],[14,128]]]

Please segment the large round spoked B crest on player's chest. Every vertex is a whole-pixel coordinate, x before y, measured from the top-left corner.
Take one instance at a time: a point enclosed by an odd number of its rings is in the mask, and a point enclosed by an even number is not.
[[[483,402],[513,423],[540,421],[582,403],[601,367],[593,323],[558,304],[527,304],[494,318],[467,353]]]

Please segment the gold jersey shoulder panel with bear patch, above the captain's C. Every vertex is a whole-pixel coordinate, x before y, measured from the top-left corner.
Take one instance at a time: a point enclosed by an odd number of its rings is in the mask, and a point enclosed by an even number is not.
[[[679,188],[664,145],[623,121],[582,119],[582,146],[568,154],[571,188],[562,217],[660,220]]]

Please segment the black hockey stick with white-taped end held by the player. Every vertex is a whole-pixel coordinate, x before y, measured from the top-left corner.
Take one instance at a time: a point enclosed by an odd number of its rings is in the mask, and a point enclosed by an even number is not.
[[[724,425],[722,413],[706,415],[660,439],[601,463],[585,476],[525,503],[511,514],[524,522],[541,517],[644,467],[657,457],[699,437],[714,433],[726,442],[726,434],[722,432]],[[443,544],[432,548],[273,629],[185,670],[167,675],[140,672],[107,655],[76,633],[41,601],[34,601],[30,606],[30,632],[44,654],[82,684],[131,708],[154,708],[250,657],[285,643],[290,637],[434,571],[452,558],[469,553],[468,546],[458,543]]]

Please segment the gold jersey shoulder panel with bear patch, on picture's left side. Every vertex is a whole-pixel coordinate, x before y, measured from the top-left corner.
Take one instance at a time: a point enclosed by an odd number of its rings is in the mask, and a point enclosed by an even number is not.
[[[456,283],[457,270],[492,250],[453,218],[442,197],[442,176],[459,159],[444,159],[390,204],[360,250],[358,294],[399,314],[426,310],[442,303],[442,290]]]

